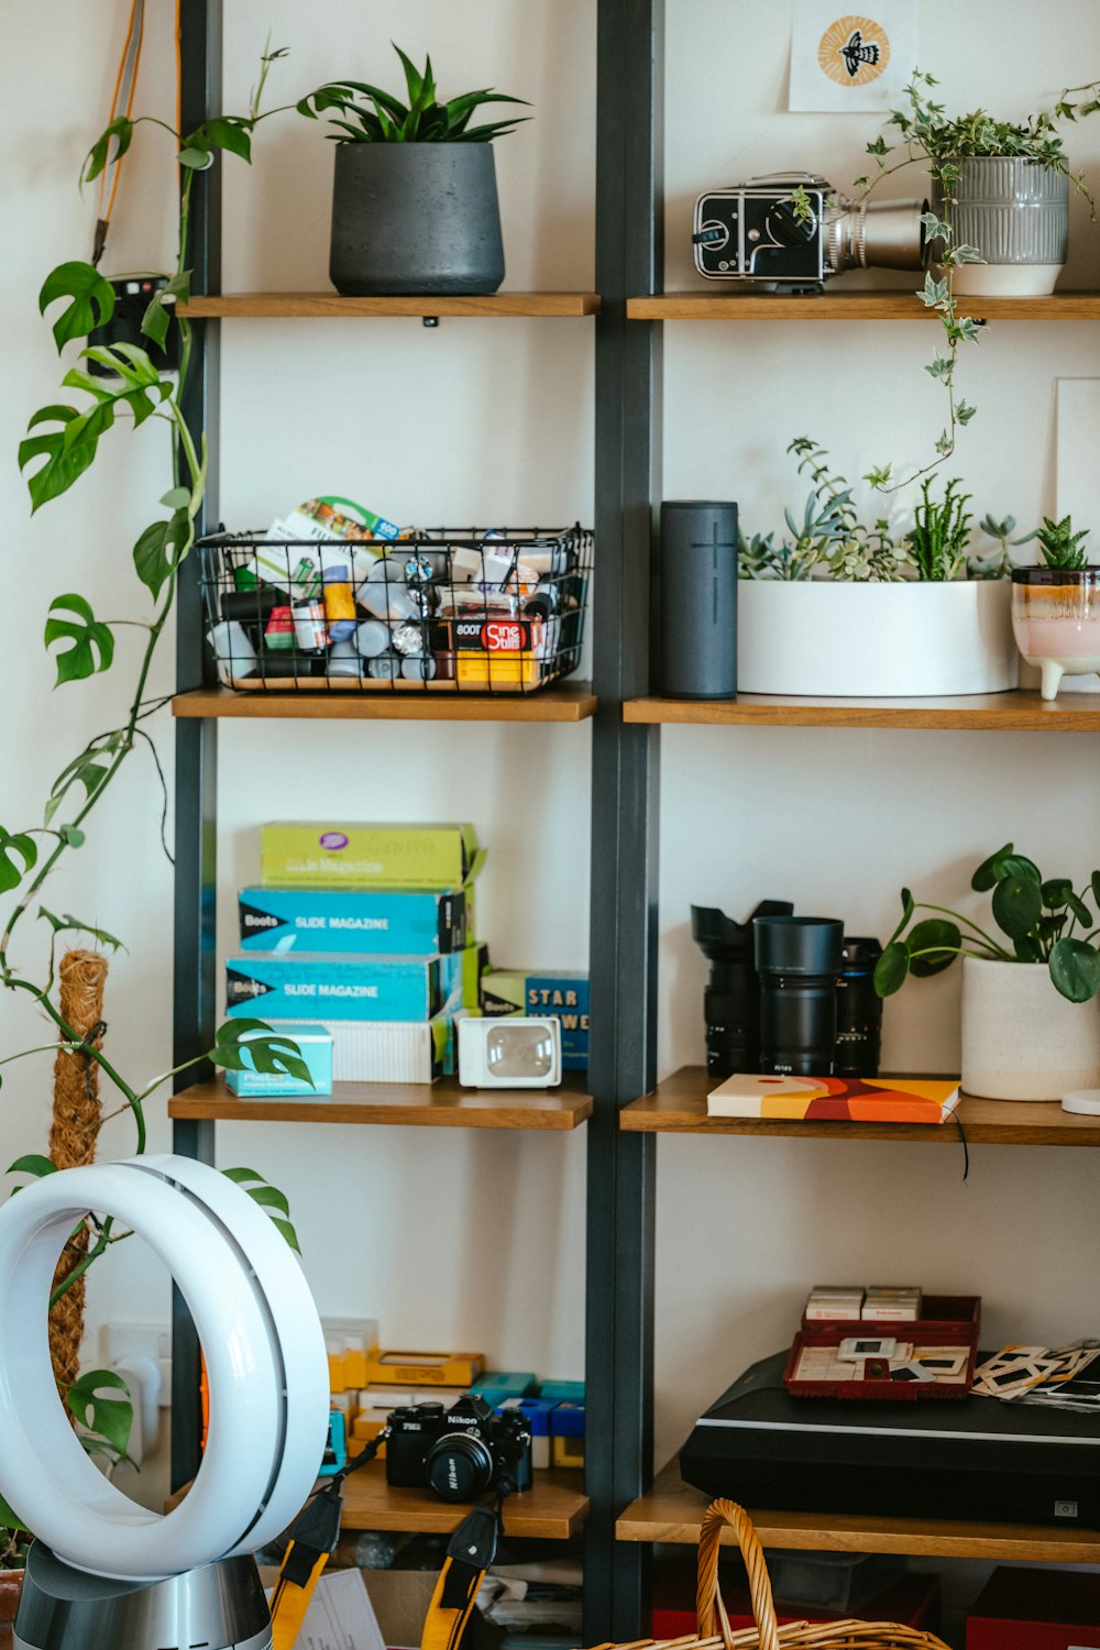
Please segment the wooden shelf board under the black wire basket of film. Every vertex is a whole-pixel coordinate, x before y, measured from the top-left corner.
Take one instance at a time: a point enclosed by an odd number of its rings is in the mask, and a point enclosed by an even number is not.
[[[587,721],[595,713],[589,681],[541,693],[176,693],[173,716],[234,716],[256,721]]]

